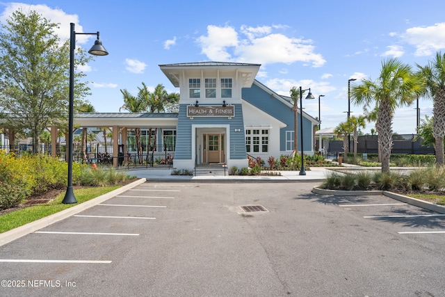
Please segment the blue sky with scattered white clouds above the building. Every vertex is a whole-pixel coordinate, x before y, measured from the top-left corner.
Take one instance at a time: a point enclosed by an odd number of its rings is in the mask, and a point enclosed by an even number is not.
[[[296,86],[311,88],[303,101],[321,127],[346,120],[348,79],[376,79],[381,63],[397,57],[416,67],[445,51],[445,1],[22,1],[0,3],[0,21],[18,7],[37,10],[60,24],[65,40],[76,32],[100,31],[109,52],[83,68],[90,81],[87,99],[98,112],[118,112],[121,89],[136,95],[142,82],[179,92],[160,64],[198,61],[259,63],[257,80],[281,95]],[[94,35],[76,35],[90,49]],[[398,109],[393,130],[412,134],[416,104]],[[432,115],[431,99],[420,99],[421,118]],[[352,115],[362,113],[351,104]],[[369,132],[374,123],[368,123]]]

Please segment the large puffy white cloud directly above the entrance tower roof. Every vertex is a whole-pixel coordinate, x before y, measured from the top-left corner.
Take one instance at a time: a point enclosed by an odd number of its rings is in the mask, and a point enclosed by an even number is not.
[[[273,33],[281,26],[241,26],[238,33],[231,26],[207,26],[207,35],[197,42],[212,61],[238,61],[243,63],[311,63],[320,67],[326,61],[314,52],[312,40],[289,38],[282,33]]]

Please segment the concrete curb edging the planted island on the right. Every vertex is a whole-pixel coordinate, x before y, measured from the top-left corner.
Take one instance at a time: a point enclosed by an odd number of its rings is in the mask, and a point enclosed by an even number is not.
[[[416,207],[421,207],[423,209],[428,209],[430,211],[436,211],[439,214],[445,214],[445,206],[434,204],[428,201],[419,200],[416,198],[411,198],[405,195],[392,193],[389,191],[337,191],[337,190],[327,190],[325,188],[319,188],[314,186],[312,192],[321,195],[342,195],[342,196],[360,196],[360,195],[385,195],[389,198],[396,199],[407,204],[414,205]]]

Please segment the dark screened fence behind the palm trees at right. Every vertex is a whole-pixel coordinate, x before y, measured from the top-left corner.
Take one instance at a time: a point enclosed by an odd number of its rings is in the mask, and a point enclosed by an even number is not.
[[[421,140],[416,138],[416,134],[395,134],[392,137],[393,147],[391,154],[435,154],[434,147],[421,145]],[[318,139],[317,139],[318,147]],[[325,141],[323,147],[327,154],[338,154],[343,152],[343,141]],[[350,152],[354,152],[354,140],[350,137]],[[358,153],[378,154],[378,136],[364,135],[358,137]]]

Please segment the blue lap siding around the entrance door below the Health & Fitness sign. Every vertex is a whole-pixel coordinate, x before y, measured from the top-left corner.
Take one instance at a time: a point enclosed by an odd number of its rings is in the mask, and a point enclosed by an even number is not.
[[[187,117],[187,104],[179,105],[175,159],[190,160],[195,156],[192,152],[192,125],[230,125],[230,159],[246,159],[245,133],[243,124],[243,107],[241,104],[234,104],[235,116],[232,119],[219,117]],[[235,132],[234,129],[241,129]]]

